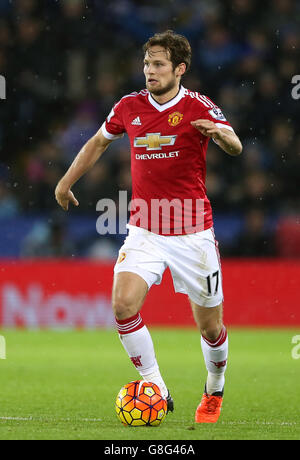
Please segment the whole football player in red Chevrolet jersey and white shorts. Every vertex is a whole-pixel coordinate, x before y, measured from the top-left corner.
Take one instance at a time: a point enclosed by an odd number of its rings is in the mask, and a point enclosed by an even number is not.
[[[189,297],[208,372],[195,421],[215,423],[223,399],[228,337],[222,320],[218,245],[205,188],[206,151],[210,138],[232,156],[241,153],[242,145],[219,107],[181,85],[191,63],[185,37],[169,30],[158,33],[143,51],[147,89],[128,94],[114,105],[59,181],[55,194],[63,209],[69,203],[78,206],[73,184],[114,139],[128,134],[133,206],[129,234],[114,269],[112,306],[117,330],[142,378],[160,387],[168,410],[173,411],[140,313],[149,289],[161,282],[169,267],[175,291]],[[153,310],[155,314],[155,306]]]

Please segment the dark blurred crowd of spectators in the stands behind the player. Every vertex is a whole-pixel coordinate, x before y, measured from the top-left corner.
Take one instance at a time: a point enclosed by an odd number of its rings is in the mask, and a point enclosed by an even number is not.
[[[280,222],[300,215],[299,16],[295,0],[0,0],[0,219],[57,210],[74,156],[120,97],[144,88],[143,43],[173,29],[193,49],[183,85],[216,102],[244,145],[235,159],[208,151],[214,213],[243,223],[223,253],[281,255]],[[75,186],[72,213],[96,218],[100,198],[130,186],[125,137]]]

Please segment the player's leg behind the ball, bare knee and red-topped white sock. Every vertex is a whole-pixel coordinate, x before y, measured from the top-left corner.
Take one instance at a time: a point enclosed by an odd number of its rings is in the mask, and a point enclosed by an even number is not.
[[[132,363],[143,379],[156,383],[167,398],[168,390],[160,374],[152,338],[140,315],[148,289],[146,281],[136,273],[115,273],[112,307],[120,340]],[[172,410],[170,402],[169,410]]]

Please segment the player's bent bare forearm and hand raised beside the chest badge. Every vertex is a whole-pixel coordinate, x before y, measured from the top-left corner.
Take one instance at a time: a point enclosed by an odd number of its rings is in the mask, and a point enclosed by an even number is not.
[[[240,139],[234,131],[227,129],[226,125],[224,128],[219,128],[213,121],[207,119],[191,121],[191,125],[204,136],[211,137],[229,155],[236,156],[242,152],[243,146]]]

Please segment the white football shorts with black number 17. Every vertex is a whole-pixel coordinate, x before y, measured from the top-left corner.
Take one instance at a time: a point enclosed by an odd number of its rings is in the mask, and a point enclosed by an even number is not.
[[[150,289],[160,284],[169,267],[175,292],[187,294],[202,307],[223,301],[220,257],[213,228],[189,235],[164,236],[128,225],[114,273],[141,276]]]

